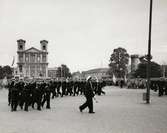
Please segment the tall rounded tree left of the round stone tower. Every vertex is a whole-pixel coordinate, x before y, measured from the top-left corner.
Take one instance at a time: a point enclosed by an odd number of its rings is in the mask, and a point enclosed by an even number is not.
[[[114,74],[117,78],[124,78],[127,73],[127,65],[129,63],[129,54],[124,48],[113,50],[109,63],[109,74]]]

